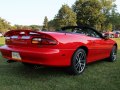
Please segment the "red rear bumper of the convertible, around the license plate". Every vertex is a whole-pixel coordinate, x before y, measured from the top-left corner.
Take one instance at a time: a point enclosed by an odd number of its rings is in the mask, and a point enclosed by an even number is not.
[[[18,62],[47,66],[69,66],[74,50],[7,46],[0,47],[4,58]],[[19,53],[21,60],[13,59],[12,52]]]

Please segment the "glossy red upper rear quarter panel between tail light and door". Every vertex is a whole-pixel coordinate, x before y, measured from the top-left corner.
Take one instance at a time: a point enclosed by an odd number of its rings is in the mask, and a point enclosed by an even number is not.
[[[86,36],[80,34],[67,34],[60,33],[58,35],[51,34],[57,41],[57,47],[59,49],[74,49],[76,50],[79,46],[87,45],[88,41]]]

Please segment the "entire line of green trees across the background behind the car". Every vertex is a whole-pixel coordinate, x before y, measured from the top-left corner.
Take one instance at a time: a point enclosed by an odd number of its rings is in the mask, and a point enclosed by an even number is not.
[[[99,31],[120,30],[120,13],[117,12],[115,0],[76,0],[72,7],[61,6],[52,20],[45,16],[43,26],[14,25],[0,18],[0,32],[16,29],[54,31],[64,26],[87,25]]]

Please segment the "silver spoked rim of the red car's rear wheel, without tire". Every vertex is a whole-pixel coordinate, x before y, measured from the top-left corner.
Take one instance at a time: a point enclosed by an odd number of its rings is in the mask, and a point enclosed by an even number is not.
[[[86,54],[84,52],[79,52],[75,58],[75,69],[78,73],[81,73],[86,65]]]

